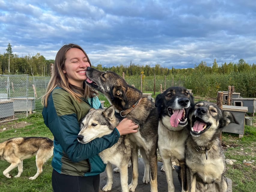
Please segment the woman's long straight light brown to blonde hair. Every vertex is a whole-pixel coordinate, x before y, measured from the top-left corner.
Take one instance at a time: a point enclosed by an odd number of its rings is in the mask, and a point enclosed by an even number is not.
[[[68,82],[68,79],[62,70],[64,69],[64,64],[65,64],[65,60],[66,60],[66,52],[71,48],[77,48],[77,49],[82,50],[84,52],[84,54],[86,55],[90,66],[92,66],[91,61],[89,60],[86,52],[82,49],[82,47],[80,47],[77,44],[63,45],[56,54],[56,58],[55,58],[54,66],[53,66],[53,73],[52,73],[50,82],[48,83],[46,93],[42,98],[42,104],[45,107],[47,107],[47,100],[50,96],[50,93],[57,86],[68,91],[70,93],[70,95],[72,95],[74,97],[74,99],[77,100],[78,102],[82,101],[81,98],[92,98],[98,94],[97,91],[95,91],[93,88],[89,87],[86,83],[84,83],[84,86],[83,86],[84,88],[80,88],[75,85],[71,85]]]

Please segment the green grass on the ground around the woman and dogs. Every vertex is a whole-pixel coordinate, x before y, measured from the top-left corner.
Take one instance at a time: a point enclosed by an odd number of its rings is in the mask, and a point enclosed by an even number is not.
[[[156,94],[157,95],[157,94]],[[154,95],[152,95],[155,98]],[[105,98],[99,96],[100,100]],[[198,100],[201,100],[199,98]],[[203,99],[202,99],[203,100]],[[105,104],[109,105],[108,101]],[[108,106],[106,106],[108,107]],[[222,133],[222,143],[226,158],[235,159],[233,165],[227,165],[227,173],[225,174],[232,180],[233,192],[254,192],[256,189],[256,167],[255,162],[252,165],[243,164],[242,161],[256,160],[256,117],[254,117],[254,125],[245,125],[245,134],[243,138],[239,138],[237,134]],[[5,131],[2,131],[6,128]],[[15,122],[9,122],[0,125],[0,142],[11,137],[48,137],[53,139],[52,133],[44,125],[41,114],[32,114],[28,118],[19,119]],[[227,148],[227,145],[230,148]],[[233,147],[233,148],[231,148]],[[51,186],[51,158],[43,166],[43,173],[37,179],[31,181],[28,178],[36,173],[35,157],[26,159],[23,162],[23,173],[20,178],[6,178],[2,171],[10,164],[7,161],[0,161],[0,192],[50,192]],[[11,175],[17,175],[17,168],[11,171]]]

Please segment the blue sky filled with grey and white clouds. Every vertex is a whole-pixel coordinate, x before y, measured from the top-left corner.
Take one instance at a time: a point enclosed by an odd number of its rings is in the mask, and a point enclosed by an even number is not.
[[[47,60],[68,43],[93,66],[256,63],[255,0],[0,0],[0,54]]]

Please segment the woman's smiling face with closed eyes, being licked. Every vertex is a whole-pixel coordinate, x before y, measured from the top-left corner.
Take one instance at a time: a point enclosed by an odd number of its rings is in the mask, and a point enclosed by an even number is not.
[[[87,79],[87,67],[90,67],[90,63],[82,50],[71,48],[66,52],[66,60],[62,71],[70,84],[82,88],[83,81]]]

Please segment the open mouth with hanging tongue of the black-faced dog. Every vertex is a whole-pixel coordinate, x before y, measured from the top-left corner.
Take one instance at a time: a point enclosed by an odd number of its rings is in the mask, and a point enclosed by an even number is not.
[[[178,125],[185,126],[187,124],[187,117],[186,117],[187,109],[174,110],[169,107],[168,111],[171,115],[170,124],[172,127],[176,128]]]

